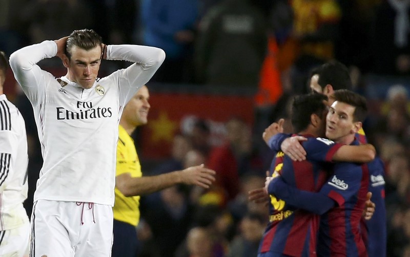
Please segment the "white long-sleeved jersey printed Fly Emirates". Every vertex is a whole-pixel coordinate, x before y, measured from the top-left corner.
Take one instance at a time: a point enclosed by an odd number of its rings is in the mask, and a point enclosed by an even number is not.
[[[107,59],[135,62],[83,89],[55,78],[36,63],[57,53],[54,41],[10,56],[17,82],[31,101],[42,146],[34,201],[39,199],[114,204],[118,123],[124,105],[154,75],[165,58],[158,48],[107,47]]]

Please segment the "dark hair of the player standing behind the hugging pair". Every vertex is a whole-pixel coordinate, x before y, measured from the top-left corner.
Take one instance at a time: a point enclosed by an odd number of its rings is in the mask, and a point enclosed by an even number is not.
[[[312,70],[311,77],[315,74],[319,75],[318,84],[322,89],[327,84],[331,84],[333,90],[353,89],[349,70],[343,63],[337,60],[331,60]]]

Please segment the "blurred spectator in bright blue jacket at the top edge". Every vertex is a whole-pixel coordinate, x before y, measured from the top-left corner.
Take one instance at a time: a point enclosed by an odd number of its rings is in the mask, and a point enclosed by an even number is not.
[[[145,45],[167,53],[153,81],[188,82],[187,69],[198,22],[198,0],[142,0],[141,18]]]

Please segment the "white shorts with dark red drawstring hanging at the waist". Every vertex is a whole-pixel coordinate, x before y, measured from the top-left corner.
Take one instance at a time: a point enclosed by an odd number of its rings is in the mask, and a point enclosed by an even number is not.
[[[111,256],[111,205],[38,200],[31,214],[30,257]]]

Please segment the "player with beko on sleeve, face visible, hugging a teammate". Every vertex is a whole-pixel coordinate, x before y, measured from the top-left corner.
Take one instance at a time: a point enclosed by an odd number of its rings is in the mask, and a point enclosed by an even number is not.
[[[365,116],[365,99],[347,90],[335,91],[333,97],[336,101],[326,117],[326,136],[339,143],[358,145],[355,133]],[[286,185],[281,178],[269,183],[268,190],[293,206],[320,215],[324,213],[317,247],[319,256],[367,256],[359,223],[368,177],[367,164],[336,163],[334,174],[318,193]]]

